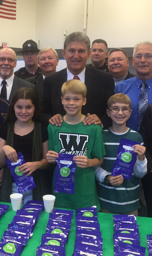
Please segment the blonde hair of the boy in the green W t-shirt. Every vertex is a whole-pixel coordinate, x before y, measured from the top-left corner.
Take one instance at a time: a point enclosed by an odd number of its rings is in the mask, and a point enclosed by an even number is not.
[[[86,97],[87,88],[85,84],[79,80],[69,80],[62,85],[61,95],[62,97],[66,92],[73,94],[81,94],[83,99]]]

